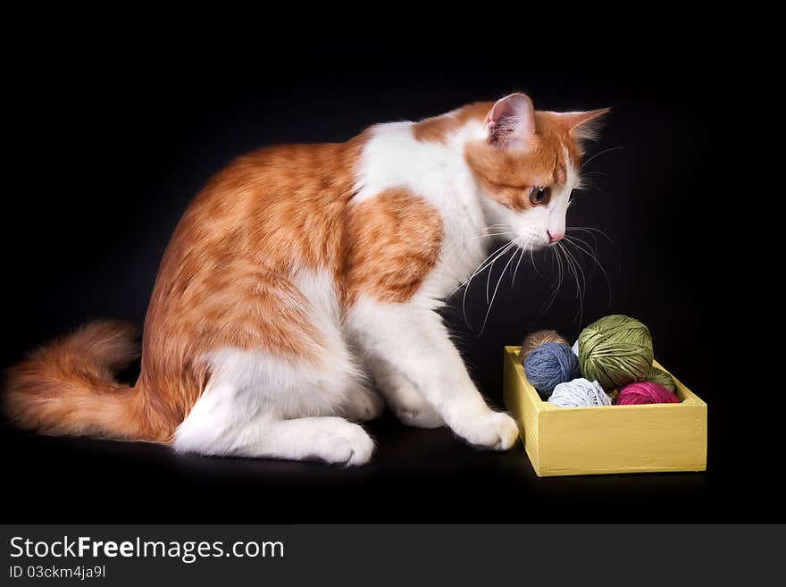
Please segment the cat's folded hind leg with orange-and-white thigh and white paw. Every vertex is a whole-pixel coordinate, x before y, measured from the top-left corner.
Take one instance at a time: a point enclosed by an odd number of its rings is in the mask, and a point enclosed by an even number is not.
[[[222,344],[198,359],[210,378],[175,432],[174,449],[365,463],[371,437],[341,416],[371,418],[382,405],[344,340],[330,274],[241,269],[213,293],[220,312],[210,323]],[[230,296],[238,301],[228,304]]]

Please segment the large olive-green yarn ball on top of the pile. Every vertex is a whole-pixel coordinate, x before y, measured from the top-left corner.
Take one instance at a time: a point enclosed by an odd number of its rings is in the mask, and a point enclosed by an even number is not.
[[[643,381],[652,368],[652,337],[638,320],[605,316],[579,335],[581,373],[605,390]]]

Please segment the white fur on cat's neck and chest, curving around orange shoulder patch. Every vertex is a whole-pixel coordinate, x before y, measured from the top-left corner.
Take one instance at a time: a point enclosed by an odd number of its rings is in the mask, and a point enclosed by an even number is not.
[[[361,156],[355,204],[405,188],[438,210],[445,236],[437,266],[420,291],[435,303],[468,279],[487,254],[487,222],[464,160],[466,141],[484,133],[480,122],[470,123],[443,144],[415,139],[411,122],[380,124]]]

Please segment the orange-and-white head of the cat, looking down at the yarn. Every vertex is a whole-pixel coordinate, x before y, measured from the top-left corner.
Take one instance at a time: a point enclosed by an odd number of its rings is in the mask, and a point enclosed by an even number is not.
[[[595,138],[608,109],[536,112],[529,96],[511,94],[491,106],[485,138],[464,155],[483,195],[492,233],[522,248],[547,247],[565,234],[565,214],[580,187],[581,142]]]

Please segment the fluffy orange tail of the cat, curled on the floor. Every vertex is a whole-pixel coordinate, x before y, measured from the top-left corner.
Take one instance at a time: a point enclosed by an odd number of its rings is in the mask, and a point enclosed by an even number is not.
[[[139,355],[134,339],[130,324],[100,321],[38,348],[7,373],[6,415],[45,434],[146,440],[142,393],[114,380]]]

